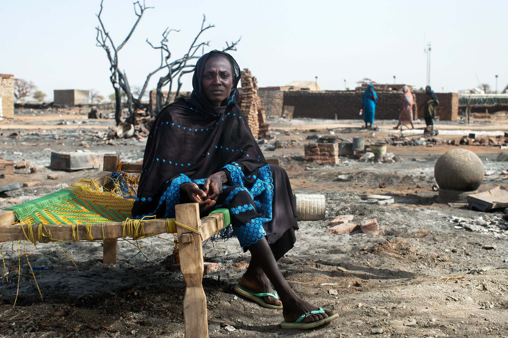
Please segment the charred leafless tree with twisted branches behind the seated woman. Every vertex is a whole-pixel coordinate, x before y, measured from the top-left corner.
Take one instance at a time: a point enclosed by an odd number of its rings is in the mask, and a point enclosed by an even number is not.
[[[113,85],[113,88],[115,90],[115,99],[116,99],[116,109],[115,109],[115,120],[116,124],[119,124],[121,122],[121,91],[123,91],[127,97],[127,107],[129,109],[130,116],[126,121],[133,122],[134,120],[134,112],[137,109],[143,109],[143,104],[141,103],[141,99],[147,94],[146,90],[148,87],[148,83],[151,79],[151,77],[157,73],[158,71],[161,71],[162,69],[167,68],[167,74],[164,77],[161,77],[157,83],[157,91],[156,91],[156,104],[155,108],[150,112],[150,115],[154,116],[158,114],[159,111],[161,111],[163,107],[163,95],[162,95],[162,88],[166,86],[169,83],[169,93],[171,93],[171,87],[173,84],[173,80],[178,77],[178,89],[177,89],[177,95],[178,97],[180,88],[182,86],[181,83],[181,77],[183,74],[194,71],[194,67],[196,66],[195,62],[192,62],[194,59],[199,59],[201,56],[198,56],[198,52],[200,48],[204,48],[204,46],[209,46],[208,42],[202,42],[197,43],[200,35],[207,30],[208,28],[215,27],[214,25],[205,25],[206,18],[203,15],[203,22],[201,24],[201,30],[199,31],[198,35],[195,37],[193,43],[190,45],[188,51],[186,54],[184,54],[182,57],[170,62],[171,58],[171,52],[169,50],[169,47],[167,45],[168,42],[168,35],[171,31],[179,31],[176,29],[169,29],[166,28],[166,30],[162,34],[162,40],[160,46],[153,46],[148,39],[146,42],[154,49],[160,49],[161,50],[161,63],[158,65],[153,71],[151,71],[148,76],[146,77],[145,84],[140,90],[135,90],[135,93],[131,91],[131,86],[129,85],[129,81],[127,79],[125,70],[120,70],[118,66],[118,52],[120,49],[129,41],[129,38],[131,37],[132,33],[136,29],[139,21],[141,20],[141,17],[143,16],[145,10],[150,9],[153,7],[146,7],[145,3],[143,2],[143,5],[139,1],[134,3],[134,13],[138,17],[136,22],[134,23],[131,31],[129,32],[128,36],[123,40],[123,42],[118,46],[115,47],[115,44],[113,43],[113,40],[109,34],[109,32],[106,30],[102,19],[101,19],[101,13],[103,10],[103,0],[101,1],[101,10],[99,11],[99,14],[97,14],[97,17],[99,19],[99,26],[96,27],[97,29],[97,46],[102,47],[108,56],[108,60],[110,62],[110,81]],[[239,43],[240,39],[236,42],[232,42],[231,45],[226,42],[227,47],[223,49],[223,51],[229,51],[229,50],[235,50],[236,51],[236,45]],[[203,52],[203,50],[202,50]],[[202,53],[201,53],[202,54]],[[134,87],[133,87],[134,88]],[[135,97],[137,96],[137,97]],[[164,104],[170,103],[170,96],[171,94],[168,94],[166,101]]]

